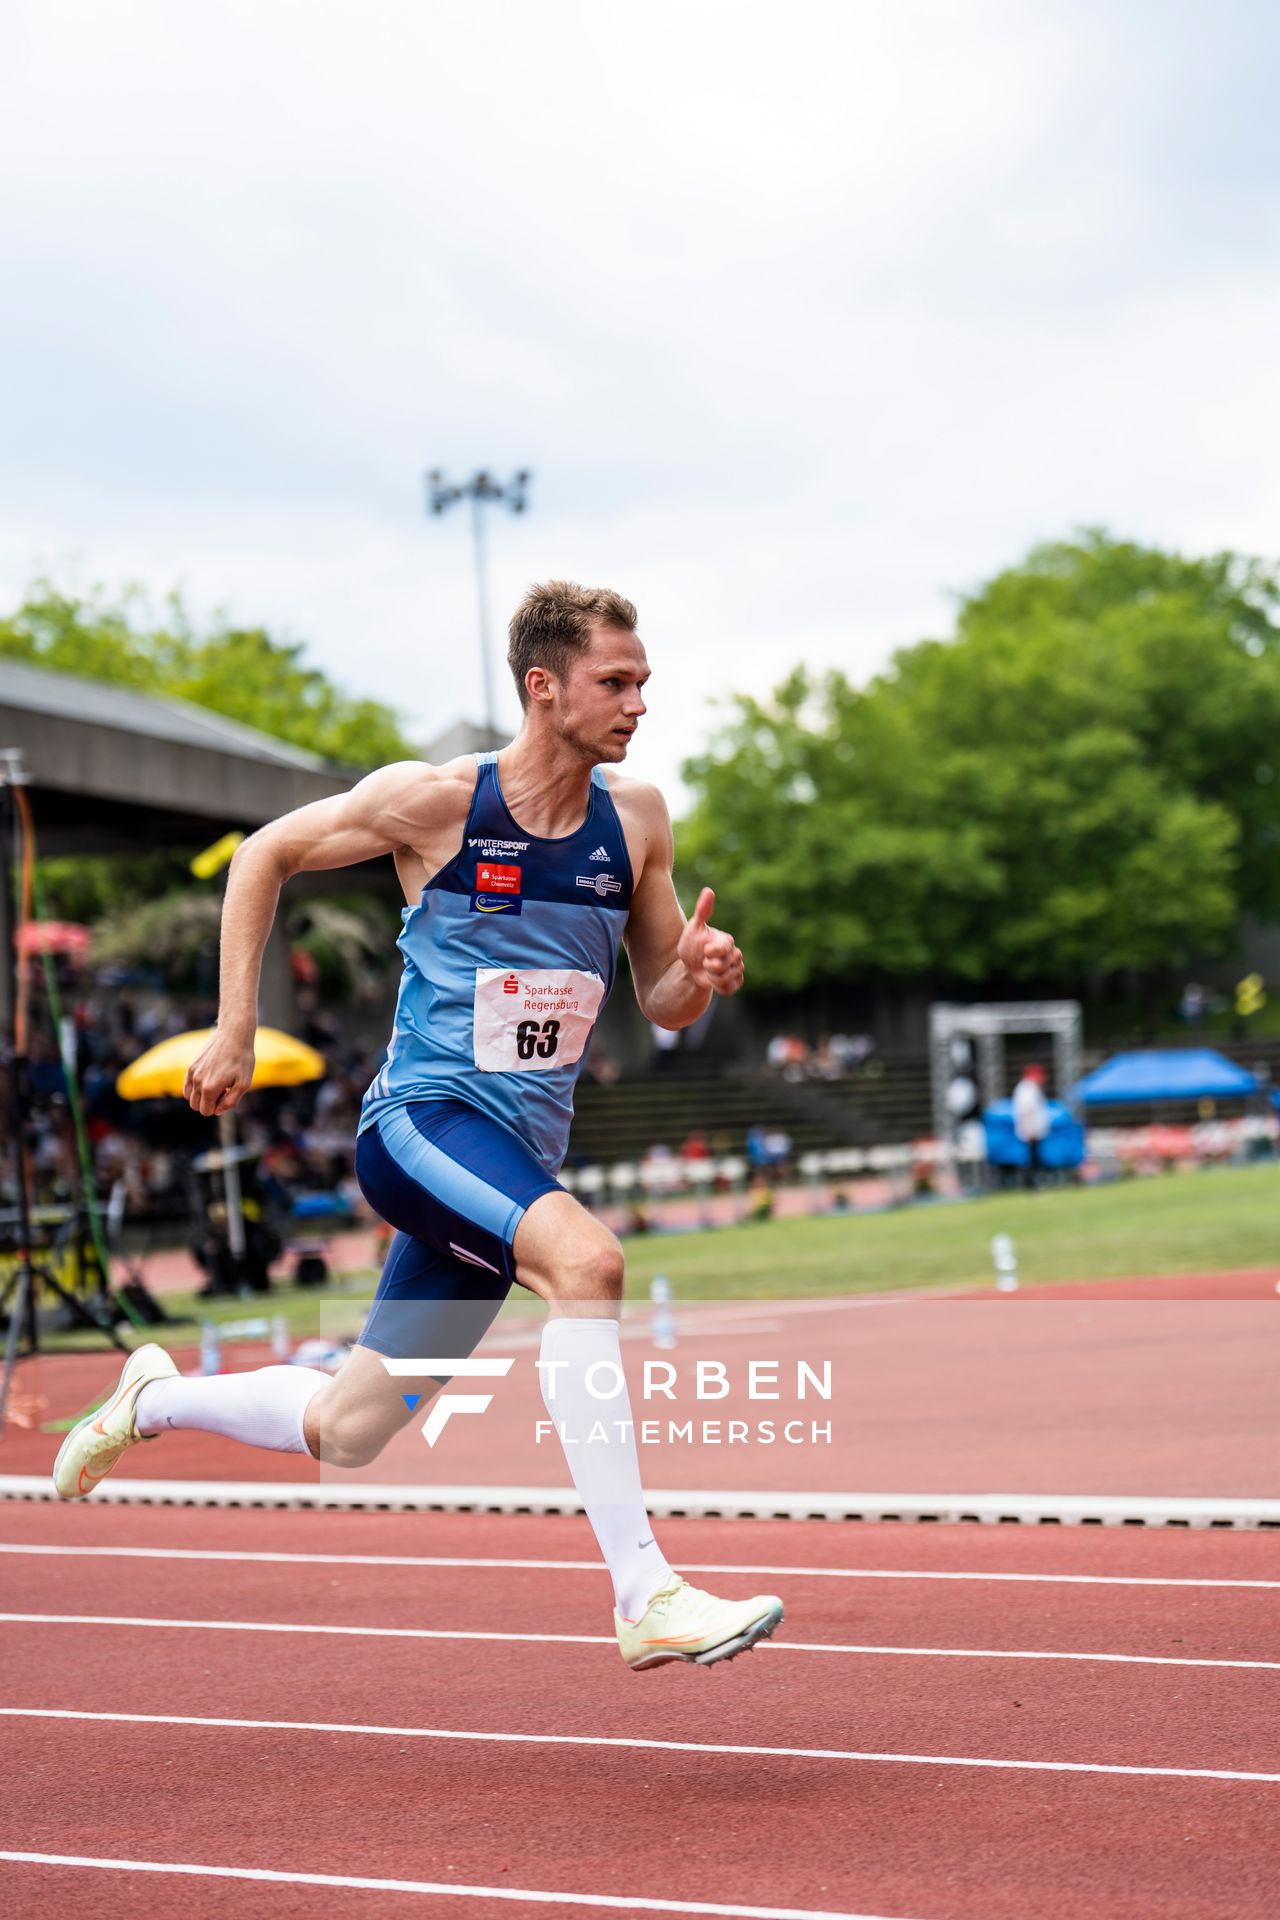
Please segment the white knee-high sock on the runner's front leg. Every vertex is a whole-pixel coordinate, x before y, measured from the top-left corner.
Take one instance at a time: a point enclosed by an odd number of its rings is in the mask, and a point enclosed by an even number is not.
[[[549,1319],[537,1373],[574,1486],[612,1574],[618,1613],[639,1620],[652,1594],[672,1578],[672,1567],[645,1509],[618,1321]],[[614,1394],[618,1382],[622,1392]]]

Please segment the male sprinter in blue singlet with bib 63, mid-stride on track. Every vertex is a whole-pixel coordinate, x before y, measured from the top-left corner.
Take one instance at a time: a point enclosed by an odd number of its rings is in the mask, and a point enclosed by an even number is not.
[[[635,618],[620,593],[533,588],[510,622],[524,708],[510,747],[386,766],[244,841],[223,912],[219,1023],[186,1098],[223,1114],[249,1087],[261,958],[290,874],[393,854],[405,973],[355,1165],[397,1235],[334,1379],[303,1367],[180,1379],[161,1348],[138,1348],[107,1409],[67,1434],[54,1480],[65,1500],[88,1494],[127,1446],[175,1427],[363,1467],[409,1419],[384,1357],[470,1354],[518,1281],[547,1302],[543,1400],[612,1574],[622,1657],[647,1668],[731,1659],[783,1607],[702,1594],[656,1544],[618,1344],[622,1248],[557,1183],[618,945],[660,1027],[691,1025],[712,993],[743,985],[733,939],[708,925],[710,889],[693,920],[679,908],[662,795],[603,772],[645,712]],[[422,1398],[438,1384],[422,1380]]]

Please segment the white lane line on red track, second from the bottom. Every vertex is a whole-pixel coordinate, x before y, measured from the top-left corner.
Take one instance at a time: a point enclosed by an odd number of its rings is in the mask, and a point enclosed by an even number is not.
[[[1136,1774],[1144,1780],[1245,1780],[1280,1786],[1280,1774],[1228,1766],[1115,1766],[1102,1761],[990,1761],[971,1753],[879,1753],[860,1747],[741,1747],[702,1740],[635,1740],[614,1734],[482,1734],[459,1726],[378,1726],[363,1720],[234,1720],[190,1713],[84,1713],[75,1707],[0,1707],[10,1720],[92,1720],[113,1726],[230,1726],[267,1734],[374,1734],[391,1740],[464,1740],[480,1745],[624,1747],[652,1753],[741,1753],[770,1761],[871,1761],[892,1766],[983,1766],[1017,1774]]]

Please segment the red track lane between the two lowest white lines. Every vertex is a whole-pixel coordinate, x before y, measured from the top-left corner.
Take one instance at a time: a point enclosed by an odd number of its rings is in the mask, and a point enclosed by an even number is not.
[[[23,1751],[35,1793],[2,1843],[50,1853],[173,1859],[184,1834],[188,1859],[581,1891],[626,1874],[641,1893],[921,1920],[1272,1910],[1276,1788],[65,1722],[25,1722]],[[225,1910],[184,1889],[192,1908]],[[65,1891],[23,1910],[52,1920]]]

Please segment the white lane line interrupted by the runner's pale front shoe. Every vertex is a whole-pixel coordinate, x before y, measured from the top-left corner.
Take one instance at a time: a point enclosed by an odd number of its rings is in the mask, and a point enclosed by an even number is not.
[[[612,1647],[612,1634],[499,1634],[449,1626],[317,1626],[309,1620],[180,1620],[150,1613],[0,1613],[12,1626],[177,1626],[196,1634],[347,1634],[353,1640],[509,1640],[520,1645]],[[883,1647],[835,1640],[762,1640],[762,1653],[896,1653],[917,1661],[1103,1661],[1117,1667],[1244,1667],[1280,1672],[1280,1661],[1190,1659],[1174,1653],[1054,1653],[1025,1647]]]

